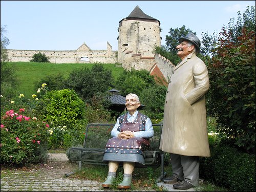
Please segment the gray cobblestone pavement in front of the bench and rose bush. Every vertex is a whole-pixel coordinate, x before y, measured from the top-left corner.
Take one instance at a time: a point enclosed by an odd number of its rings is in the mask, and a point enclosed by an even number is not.
[[[65,177],[65,174],[74,171],[77,166],[68,160],[66,154],[50,154],[47,164],[18,169],[1,167],[1,191],[116,191],[101,187],[98,181]],[[157,183],[157,185],[165,191],[179,191],[170,184]],[[139,190],[127,191],[156,190],[143,187]],[[182,191],[194,191],[194,189]]]

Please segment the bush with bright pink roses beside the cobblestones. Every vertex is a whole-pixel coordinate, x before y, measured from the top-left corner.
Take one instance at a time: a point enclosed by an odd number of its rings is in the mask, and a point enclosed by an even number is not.
[[[48,127],[36,117],[28,117],[23,108],[6,111],[1,117],[1,164],[25,165],[32,159],[35,162],[38,152],[47,151]],[[37,157],[37,162],[45,160]]]

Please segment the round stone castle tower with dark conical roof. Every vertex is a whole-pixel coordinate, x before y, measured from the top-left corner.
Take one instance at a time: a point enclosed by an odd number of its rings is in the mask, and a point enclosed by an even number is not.
[[[161,46],[160,22],[136,6],[120,20],[118,27],[118,62],[124,69],[147,69],[155,64],[153,48]]]

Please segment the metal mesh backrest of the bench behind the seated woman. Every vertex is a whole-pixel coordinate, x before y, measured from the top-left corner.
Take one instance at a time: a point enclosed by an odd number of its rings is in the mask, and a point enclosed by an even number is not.
[[[111,138],[111,131],[115,124],[89,123],[83,141],[84,148],[105,148],[106,142]],[[152,151],[160,151],[162,124],[153,124],[154,136],[150,139]]]

